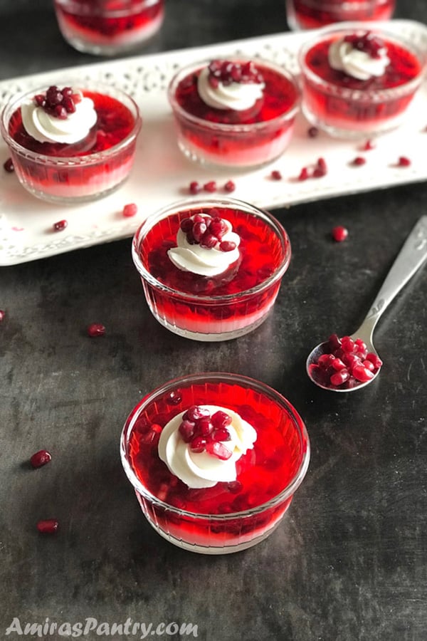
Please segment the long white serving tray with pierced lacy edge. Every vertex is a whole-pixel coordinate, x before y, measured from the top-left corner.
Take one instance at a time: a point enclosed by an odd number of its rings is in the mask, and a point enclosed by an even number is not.
[[[427,51],[427,27],[423,24],[393,20],[386,27],[389,31],[406,34]],[[258,207],[274,209],[427,179],[425,84],[411,105],[412,113],[406,125],[381,136],[375,149],[363,154],[367,162],[359,167],[351,164],[354,157],[362,155],[356,142],[335,140],[326,134],[310,138],[307,136],[308,123],[302,115],[297,118],[290,147],[268,167],[233,173],[212,170],[186,160],[176,145],[166,97],[167,85],[174,72],[191,61],[240,52],[273,60],[297,74],[297,51],[307,37],[311,38],[312,33],[278,33],[2,81],[0,102],[5,103],[23,90],[40,85],[68,84],[67,78],[102,80],[124,88],[133,96],[141,109],[143,125],[130,179],[114,194],[90,204],[64,207],[43,202],[28,194],[16,176],[0,166],[0,266],[132,236],[147,215],[188,196],[188,185],[192,180],[202,184],[216,180],[221,188],[228,179],[233,179],[236,191],[231,196]],[[298,182],[296,177],[300,168],[312,165],[320,156],[327,161],[327,175]],[[399,156],[409,157],[411,165],[398,167]],[[9,152],[1,141],[1,165],[7,157]],[[270,179],[272,170],[280,171],[282,179]],[[221,189],[218,192],[224,193]],[[137,203],[138,214],[124,218],[122,208],[130,202]],[[63,231],[53,231],[53,223],[61,219],[66,219],[68,226]]]

